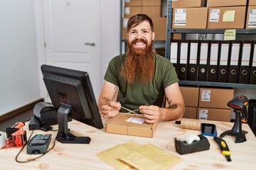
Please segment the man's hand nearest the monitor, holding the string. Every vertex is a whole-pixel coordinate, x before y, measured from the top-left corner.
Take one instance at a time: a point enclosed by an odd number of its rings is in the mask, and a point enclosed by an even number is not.
[[[100,113],[104,118],[114,117],[119,113],[121,109],[121,104],[115,101],[109,101],[106,105],[102,105],[100,108]]]

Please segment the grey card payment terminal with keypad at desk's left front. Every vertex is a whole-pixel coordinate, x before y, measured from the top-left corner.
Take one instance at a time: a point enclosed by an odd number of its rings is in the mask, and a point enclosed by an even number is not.
[[[27,145],[27,154],[45,154],[50,144],[51,134],[35,135]]]

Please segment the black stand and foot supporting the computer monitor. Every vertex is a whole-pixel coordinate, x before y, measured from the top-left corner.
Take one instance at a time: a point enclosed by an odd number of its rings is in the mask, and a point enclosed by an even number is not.
[[[71,134],[68,129],[68,115],[73,114],[72,108],[64,103],[60,103],[58,108],[58,135],[56,140],[60,143],[73,143],[73,144],[89,144],[90,137],[76,137]]]

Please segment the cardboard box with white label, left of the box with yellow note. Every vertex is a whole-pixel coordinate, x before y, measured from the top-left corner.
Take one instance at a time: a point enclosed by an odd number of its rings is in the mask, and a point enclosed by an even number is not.
[[[208,8],[174,8],[172,28],[206,28]]]

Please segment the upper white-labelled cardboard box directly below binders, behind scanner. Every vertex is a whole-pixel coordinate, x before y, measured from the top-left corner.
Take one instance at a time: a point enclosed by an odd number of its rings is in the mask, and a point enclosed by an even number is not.
[[[227,103],[234,98],[234,89],[200,88],[199,107],[226,108]]]

